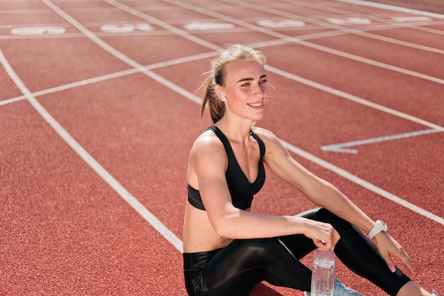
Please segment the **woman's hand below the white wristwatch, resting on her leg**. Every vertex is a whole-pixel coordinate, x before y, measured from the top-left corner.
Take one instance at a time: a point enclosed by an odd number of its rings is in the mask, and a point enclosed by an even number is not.
[[[414,273],[413,264],[411,263],[409,255],[404,252],[401,245],[395,241],[392,236],[387,234],[387,232],[381,231],[379,234],[374,236],[374,239],[376,239],[376,246],[379,253],[381,254],[382,258],[384,258],[385,262],[387,262],[387,265],[389,266],[390,270],[392,270],[392,273],[394,273],[396,270],[392,261],[392,256],[399,258],[402,263],[409,268],[411,273]]]

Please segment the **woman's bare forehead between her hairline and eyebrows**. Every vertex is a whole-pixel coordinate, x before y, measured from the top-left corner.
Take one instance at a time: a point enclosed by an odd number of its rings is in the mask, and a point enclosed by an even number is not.
[[[226,80],[238,81],[245,78],[259,79],[266,75],[264,66],[255,59],[236,60],[226,65]]]

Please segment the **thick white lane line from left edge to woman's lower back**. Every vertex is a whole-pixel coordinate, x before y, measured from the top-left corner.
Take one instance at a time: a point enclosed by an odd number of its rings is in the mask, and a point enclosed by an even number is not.
[[[65,128],[60,125],[54,117],[38,102],[33,94],[30,93],[28,87],[21,81],[21,79],[16,75],[16,72],[13,70],[9,62],[4,57],[3,53],[0,50],[0,62],[1,65],[5,68],[11,80],[16,84],[18,89],[26,96],[28,102],[34,107],[36,111],[40,114],[40,116],[45,119],[48,124],[54,129],[54,131],[62,137],[62,139],[74,150],[88,165],[91,167],[97,175],[99,175],[114,191],[117,192],[128,204],[135,209],[136,212],[143,216],[143,218],[148,221],[157,231],[162,234],[172,245],[177,248],[182,253],[182,241],[177,238],[175,234],[170,231],[162,222],[156,218],[150,211],[148,211],[143,204],[141,204],[138,199],[133,197],[133,194],[128,192],[125,187],[123,187],[104,167],[100,165],[97,160],[95,160],[87,150],[85,150],[71,135],[68,133]]]

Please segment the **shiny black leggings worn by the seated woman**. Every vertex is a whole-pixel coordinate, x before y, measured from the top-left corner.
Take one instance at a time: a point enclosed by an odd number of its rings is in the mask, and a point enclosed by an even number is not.
[[[409,278],[392,273],[369,239],[326,209],[299,216],[331,224],[340,234],[336,256],[350,270],[395,296]],[[299,260],[316,249],[301,234],[270,239],[237,239],[225,248],[184,253],[184,277],[189,296],[247,296],[262,280],[272,285],[310,291],[311,270]]]

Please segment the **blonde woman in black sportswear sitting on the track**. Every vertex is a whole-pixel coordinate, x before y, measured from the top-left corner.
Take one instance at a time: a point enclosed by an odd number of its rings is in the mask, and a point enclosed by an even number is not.
[[[382,222],[299,165],[270,131],[254,127],[268,94],[264,65],[262,53],[233,45],[213,60],[200,88],[201,113],[208,104],[213,126],[189,155],[183,234],[189,295],[248,295],[262,280],[310,291],[311,270],[299,259],[321,248],[334,249],[348,268],[389,295],[431,296],[395,267],[391,256],[412,270]],[[265,181],[263,163],[321,209],[299,216],[250,212]],[[377,247],[358,229],[372,232]],[[334,293],[362,295],[339,281]]]

